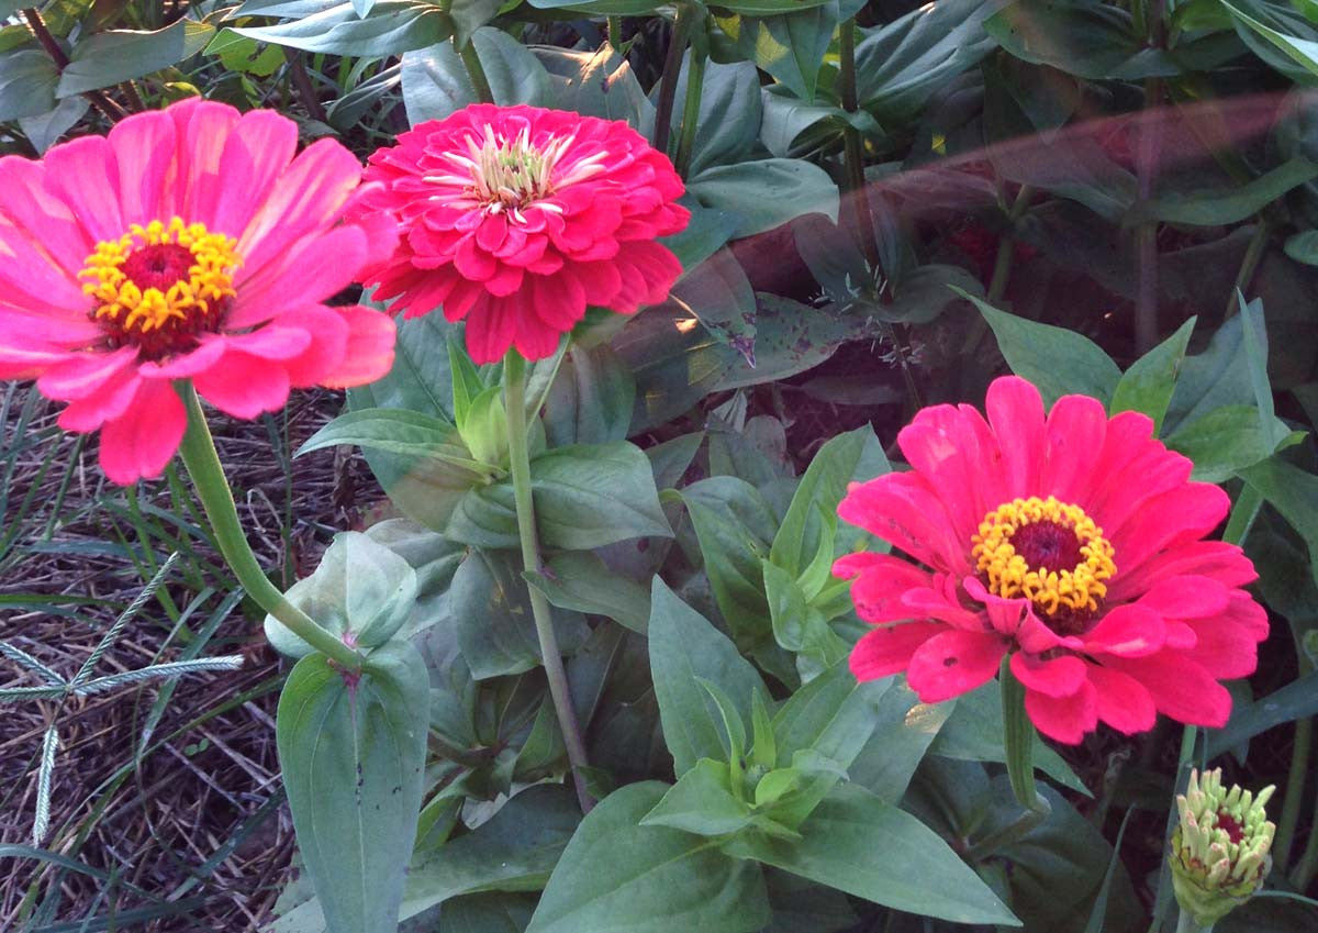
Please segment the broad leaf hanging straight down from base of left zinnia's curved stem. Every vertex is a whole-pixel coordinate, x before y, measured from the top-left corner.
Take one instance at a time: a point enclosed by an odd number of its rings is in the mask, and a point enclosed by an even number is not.
[[[356,683],[308,655],[279,697],[275,739],[303,864],[328,933],[393,933],[420,809],[426,664],[406,642]]]

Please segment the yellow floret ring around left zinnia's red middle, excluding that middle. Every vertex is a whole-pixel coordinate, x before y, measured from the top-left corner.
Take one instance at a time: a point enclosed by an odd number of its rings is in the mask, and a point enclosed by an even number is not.
[[[134,252],[170,245],[188,250],[191,264],[166,287],[142,287],[124,269]],[[204,224],[185,224],[179,217],[169,224],[153,220],[146,227],[133,224],[119,240],[98,242],[78,277],[84,279],[83,291],[96,300],[92,318],[127,336],[142,337],[170,322],[185,325],[206,319],[232,298],[232,275],[241,265],[236,248],[236,240],[211,233]]]

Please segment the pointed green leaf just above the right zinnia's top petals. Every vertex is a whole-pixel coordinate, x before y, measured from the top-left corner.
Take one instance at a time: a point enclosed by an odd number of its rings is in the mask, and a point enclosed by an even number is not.
[[[979,308],[1011,372],[1033,382],[1045,406],[1072,393],[1093,395],[1103,403],[1112,397],[1122,370],[1093,340],[1064,327],[999,311],[963,291],[960,294]]]

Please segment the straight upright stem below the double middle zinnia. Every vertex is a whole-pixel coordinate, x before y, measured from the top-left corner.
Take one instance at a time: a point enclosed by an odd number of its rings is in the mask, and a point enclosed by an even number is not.
[[[535,535],[535,503],[531,499],[531,460],[526,449],[526,364],[515,349],[510,349],[503,357],[503,407],[507,410],[507,456],[513,474],[513,499],[517,503],[517,531],[522,540],[522,564],[530,573],[538,573],[540,553]],[[563,742],[568,750],[568,763],[572,766],[577,801],[581,804],[581,812],[589,813],[594,806],[594,799],[585,789],[584,768],[589,767],[585,742],[581,741],[581,726],[572,706],[568,675],[563,668],[563,654],[554,634],[550,602],[535,586],[529,585],[526,589],[531,598],[531,614],[535,617],[535,634],[540,640],[544,675],[550,681],[550,697],[554,700],[554,712],[558,713],[559,729],[563,730]]]

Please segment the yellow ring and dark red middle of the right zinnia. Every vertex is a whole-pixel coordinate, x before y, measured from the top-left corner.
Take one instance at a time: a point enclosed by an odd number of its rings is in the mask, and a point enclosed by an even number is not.
[[[985,515],[971,542],[988,592],[1025,597],[1048,615],[1095,611],[1116,573],[1103,530],[1083,509],[1052,495],[1004,502]]]

